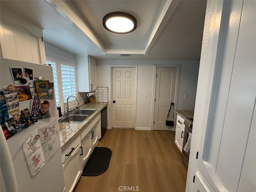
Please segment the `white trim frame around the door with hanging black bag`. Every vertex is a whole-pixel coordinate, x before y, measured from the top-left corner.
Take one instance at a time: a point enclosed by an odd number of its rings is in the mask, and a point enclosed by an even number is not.
[[[154,130],[154,110],[155,110],[155,96],[156,96],[156,68],[157,67],[175,67],[175,68],[177,68],[175,94],[174,94],[174,110],[177,110],[177,104],[178,104],[178,91],[179,91],[179,83],[180,83],[181,64],[154,64],[150,130]],[[175,122],[176,122],[176,115],[174,115],[174,129],[176,129]]]

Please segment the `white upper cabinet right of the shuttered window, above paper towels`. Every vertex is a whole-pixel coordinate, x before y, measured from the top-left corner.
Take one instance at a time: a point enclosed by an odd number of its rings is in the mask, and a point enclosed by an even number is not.
[[[96,62],[88,55],[77,55],[78,92],[91,92],[97,89]]]

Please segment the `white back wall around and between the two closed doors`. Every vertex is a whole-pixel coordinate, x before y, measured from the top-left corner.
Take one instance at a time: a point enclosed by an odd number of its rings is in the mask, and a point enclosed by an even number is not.
[[[199,61],[194,60],[98,60],[97,61],[97,85],[110,87],[110,66],[132,65],[138,66],[137,80],[137,104],[136,104],[136,127],[150,128],[153,92],[154,65],[174,67],[181,66],[180,85],[178,91],[177,109],[194,110],[196,98],[196,86],[199,69]],[[144,98],[144,94],[148,98]],[[184,95],[188,94],[188,99]],[[111,90],[109,90],[111,96]],[[112,102],[111,97],[109,101]],[[108,111],[110,113],[110,111]],[[108,116],[109,118],[109,116]],[[108,119],[110,122],[110,119]]]

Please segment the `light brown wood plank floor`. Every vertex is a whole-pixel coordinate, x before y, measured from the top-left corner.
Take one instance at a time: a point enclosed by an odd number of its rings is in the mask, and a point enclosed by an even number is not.
[[[81,176],[74,192],[184,192],[187,168],[174,135],[173,131],[107,130],[97,146],[112,150],[108,170],[100,176]]]

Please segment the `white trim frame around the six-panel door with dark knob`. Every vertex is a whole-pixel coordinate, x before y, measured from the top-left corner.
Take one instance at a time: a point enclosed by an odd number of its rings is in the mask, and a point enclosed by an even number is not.
[[[110,98],[110,129],[112,129],[112,69],[113,68],[134,68],[135,76],[134,76],[134,130],[136,129],[136,106],[137,106],[137,79],[138,79],[138,65],[110,65],[110,90],[108,92]]]

